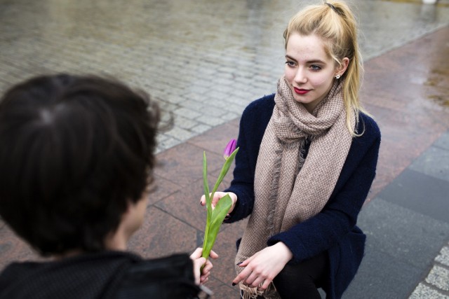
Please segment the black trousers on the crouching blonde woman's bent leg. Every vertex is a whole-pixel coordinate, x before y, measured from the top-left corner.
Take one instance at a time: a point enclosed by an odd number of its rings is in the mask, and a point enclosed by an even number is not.
[[[297,265],[287,264],[274,277],[274,286],[282,299],[321,299],[318,288],[328,276],[328,268],[328,253],[324,251]]]

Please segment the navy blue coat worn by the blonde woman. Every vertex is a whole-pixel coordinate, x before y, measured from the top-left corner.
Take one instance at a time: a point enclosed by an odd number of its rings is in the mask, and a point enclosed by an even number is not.
[[[239,200],[227,223],[246,218],[253,211],[255,165],[273,109],[274,95],[269,95],[252,102],[243,111],[234,179],[226,190],[236,193]],[[380,130],[363,113],[357,129],[363,135],[352,139],[342,172],[323,210],[267,241],[267,246],[276,242],[286,244],[293,253],[289,263],[300,263],[327,251],[330,272],[323,286],[327,298],[342,296],[358,270],[365,247],[366,235],[356,226],[356,221],[375,177]]]

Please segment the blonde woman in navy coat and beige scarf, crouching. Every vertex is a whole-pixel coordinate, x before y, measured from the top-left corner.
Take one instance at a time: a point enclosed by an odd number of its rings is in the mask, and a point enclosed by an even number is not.
[[[250,216],[236,255],[243,298],[341,298],[364,253],[356,225],[380,130],[361,106],[357,26],[343,1],[307,6],[284,32],[276,94],[243,111],[228,222]],[[216,193],[217,202],[225,193]],[[202,199],[201,202],[204,200]]]

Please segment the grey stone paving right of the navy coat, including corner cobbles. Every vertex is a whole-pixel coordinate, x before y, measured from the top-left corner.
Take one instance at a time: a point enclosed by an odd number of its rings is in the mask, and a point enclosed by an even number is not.
[[[448,193],[449,131],[362,209],[366,255],[344,298],[449,298]]]

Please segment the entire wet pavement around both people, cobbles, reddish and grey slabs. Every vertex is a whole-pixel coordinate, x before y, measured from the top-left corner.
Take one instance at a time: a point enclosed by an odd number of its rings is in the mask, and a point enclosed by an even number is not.
[[[147,220],[130,250],[151,258],[201,244],[210,181],[239,116],[274,92],[282,32],[319,1],[0,1],[0,92],[36,74],[106,74],[147,90],[175,117],[159,136]],[[366,256],[344,298],[449,298],[449,1],[353,1],[366,74],[361,99],[382,131],[377,176],[359,217]],[[229,183],[227,176],[222,188]],[[237,298],[223,225],[207,286]],[[0,220],[0,268],[37,258]]]

